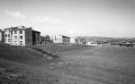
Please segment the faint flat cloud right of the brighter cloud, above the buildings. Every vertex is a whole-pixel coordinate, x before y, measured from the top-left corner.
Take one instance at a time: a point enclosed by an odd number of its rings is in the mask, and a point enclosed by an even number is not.
[[[32,17],[31,21],[33,23],[51,23],[51,24],[62,24],[62,20],[59,18],[55,18],[55,17],[50,17],[50,16],[36,16],[36,17]]]

